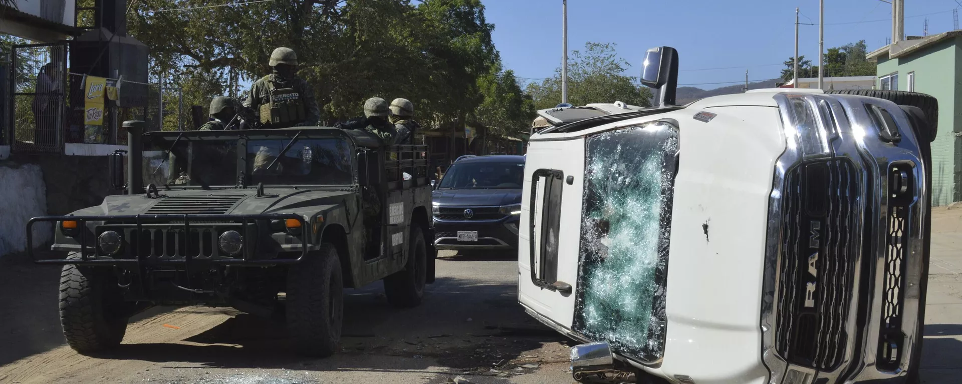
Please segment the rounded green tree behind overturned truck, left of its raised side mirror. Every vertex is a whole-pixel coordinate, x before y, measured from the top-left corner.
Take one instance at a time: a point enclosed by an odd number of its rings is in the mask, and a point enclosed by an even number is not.
[[[585,50],[571,51],[568,69],[568,100],[573,105],[623,101],[630,105],[651,105],[651,91],[637,85],[638,78],[624,72],[631,66],[618,58],[614,43],[588,42]],[[537,109],[561,102],[561,68],[542,83],[528,85]]]

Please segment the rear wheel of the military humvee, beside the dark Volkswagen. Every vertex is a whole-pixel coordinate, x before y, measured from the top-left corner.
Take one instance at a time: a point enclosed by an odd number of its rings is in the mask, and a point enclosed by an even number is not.
[[[384,278],[384,293],[388,296],[388,302],[400,308],[420,305],[427,280],[427,244],[419,226],[411,226],[411,240],[408,243],[407,266]]]

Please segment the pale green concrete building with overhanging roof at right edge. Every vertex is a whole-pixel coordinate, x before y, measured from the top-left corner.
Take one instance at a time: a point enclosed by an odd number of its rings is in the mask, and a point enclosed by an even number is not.
[[[962,200],[962,31],[909,37],[870,54],[879,90],[927,93],[939,100],[939,133],[932,142],[932,204]]]

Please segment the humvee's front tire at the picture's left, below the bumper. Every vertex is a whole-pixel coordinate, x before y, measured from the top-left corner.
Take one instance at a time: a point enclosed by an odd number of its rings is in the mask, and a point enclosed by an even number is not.
[[[79,259],[77,253],[67,258]],[[61,269],[60,317],[66,344],[80,353],[118,346],[127,333],[123,296],[112,269]]]

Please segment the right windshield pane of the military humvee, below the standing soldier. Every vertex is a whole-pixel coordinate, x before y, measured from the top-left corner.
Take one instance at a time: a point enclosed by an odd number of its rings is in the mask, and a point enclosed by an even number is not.
[[[251,184],[354,184],[352,150],[347,141],[298,139],[288,147],[290,143],[291,139],[247,141],[246,166]]]

